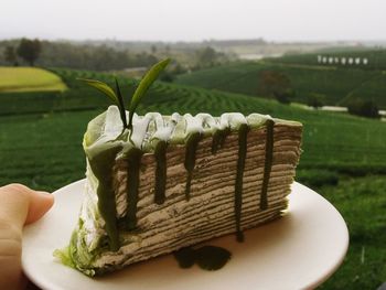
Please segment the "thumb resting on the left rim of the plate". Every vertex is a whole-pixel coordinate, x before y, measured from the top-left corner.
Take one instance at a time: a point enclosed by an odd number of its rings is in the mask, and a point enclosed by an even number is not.
[[[9,184],[0,187],[0,221],[21,230],[24,224],[37,221],[51,208],[54,196],[21,184]]]

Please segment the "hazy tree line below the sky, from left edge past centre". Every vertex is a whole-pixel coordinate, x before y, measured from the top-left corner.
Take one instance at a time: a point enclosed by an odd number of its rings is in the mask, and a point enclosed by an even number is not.
[[[2,51],[2,52],[1,52]],[[181,52],[179,52],[181,55]],[[160,58],[172,57],[175,73],[199,69],[227,62],[225,54],[214,49],[199,47],[181,60],[173,51],[161,52],[156,46],[148,51],[117,50],[107,44],[78,44],[21,39],[0,42],[0,65],[36,65],[90,71],[118,71],[131,67],[148,67]],[[184,62],[189,60],[189,62]]]

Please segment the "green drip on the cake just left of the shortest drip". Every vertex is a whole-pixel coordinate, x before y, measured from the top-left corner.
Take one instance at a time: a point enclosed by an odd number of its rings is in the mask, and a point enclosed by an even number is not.
[[[195,165],[195,153],[201,139],[202,139],[202,136],[200,132],[193,132],[189,135],[186,139],[186,151],[185,151],[185,162],[184,162],[185,169],[187,171],[186,186],[185,186],[186,201],[191,198],[191,182],[192,182],[193,169]]]

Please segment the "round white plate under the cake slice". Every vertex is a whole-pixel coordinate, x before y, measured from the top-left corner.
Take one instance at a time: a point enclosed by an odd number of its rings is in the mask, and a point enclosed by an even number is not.
[[[292,184],[288,214],[245,232],[245,243],[234,235],[211,240],[232,251],[218,271],[196,266],[180,269],[172,255],[159,257],[101,278],[92,279],[60,264],[52,253],[67,245],[82,202],[84,181],[55,194],[54,207],[23,234],[25,275],[43,289],[303,289],[330,277],[349,246],[347,227],[339,212],[322,196]]]

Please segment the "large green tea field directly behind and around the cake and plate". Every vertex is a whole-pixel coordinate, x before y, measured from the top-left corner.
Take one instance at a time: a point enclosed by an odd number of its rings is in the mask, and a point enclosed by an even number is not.
[[[108,100],[75,78],[94,77],[108,83],[114,78],[93,72],[53,72],[68,86],[64,93],[50,95],[53,103],[44,101],[49,96],[44,94],[15,94],[12,106],[6,104],[9,106],[1,107],[0,185],[22,182],[53,191],[84,178],[83,133],[87,122],[106,108]],[[119,82],[126,87],[124,95],[133,90],[135,80],[119,78]],[[0,94],[0,100],[2,96],[7,94]],[[40,107],[33,103],[40,104]],[[344,265],[322,289],[376,289],[386,280],[383,249],[385,122],[164,83],[154,84],[139,111],[207,111],[214,115],[258,111],[302,121],[304,152],[297,179],[323,194],[340,210],[351,234]]]

